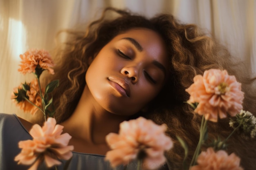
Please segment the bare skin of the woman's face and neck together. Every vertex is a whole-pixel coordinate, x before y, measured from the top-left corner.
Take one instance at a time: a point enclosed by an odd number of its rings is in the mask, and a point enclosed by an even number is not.
[[[136,40],[140,48],[127,38]],[[106,44],[88,68],[78,106],[62,123],[74,150],[105,155],[109,150],[105,136],[118,132],[122,121],[159,93],[168,66],[164,42],[152,30],[131,29]]]

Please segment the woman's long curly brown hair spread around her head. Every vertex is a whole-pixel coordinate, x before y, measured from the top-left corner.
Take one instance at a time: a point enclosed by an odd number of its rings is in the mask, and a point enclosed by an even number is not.
[[[118,14],[113,15],[108,14]],[[172,168],[181,169],[184,150],[177,141],[177,136],[187,142],[191,160],[199,139],[199,126],[202,117],[195,114],[188,104],[185,92],[193,83],[193,77],[203,74],[210,68],[226,69],[242,82],[245,92],[244,110],[256,114],[256,94],[252,91],[252,83],[243,64],[234,63],[234,57],[213,37],[205,34],[195,24],[182,24],[172,15],[159,14],[153,18],[130,13],[126,10],[106,8],[101,18],[88,24],[85,31],[65,30],[68,41],[63,48],[57,50],[55,60],[56,74],[45,77],[45,83],[59,79],[60,86],[54,91],[55,118],[58,122],[65,121],[74,112],[85,87],[85,74],[90,61],[116,35],[132,28],[147,28],[159,33],[166,43],[168,58],[171,63],[171,74],[168,82],[155,99],[150,103],[147,113],[138,113],[152,119],[157,124],[167,124],[167,134],[172,137],[175,146],[166,154]],[[231,132],[229,119],[221,119],[218,123],[209,123],[209,136],[226,136]],[[228,152],[235,152],[241,157],[241,165],[245,169],[256,166],[255,140],[244,141],[234,136],[230,138]],[[248,152],[248,153],[247,153]],[[249,155],[245,157],[245,155]]]

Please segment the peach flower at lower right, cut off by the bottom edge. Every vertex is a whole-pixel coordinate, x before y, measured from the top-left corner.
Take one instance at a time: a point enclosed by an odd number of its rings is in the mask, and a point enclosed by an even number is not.
[[[227,155],[224,150],[214,152],[213,148],[201,152],[197,162],[198,165],[192,166],[190,170],[243,170],[240,167],[240,158],[234,153]]]

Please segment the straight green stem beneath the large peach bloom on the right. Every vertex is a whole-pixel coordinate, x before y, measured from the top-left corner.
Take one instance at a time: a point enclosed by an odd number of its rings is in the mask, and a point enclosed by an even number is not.
[[[206,132],[206,125],[207,125],[207,120],[205,120],[205,118],[203,116],[202,121],[201,121],[201,126],[200,126],[200,137],[199,137],[198,145],[195,149],[195,153],[193,155],[190,166],[194,166],[196,163],[196,160],[198,158],[199,152],[201,150],[202,142],[204,140],[205,132]]]

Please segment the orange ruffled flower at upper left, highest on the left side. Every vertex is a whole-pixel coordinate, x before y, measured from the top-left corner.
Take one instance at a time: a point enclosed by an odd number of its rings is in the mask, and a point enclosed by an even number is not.
[[[43,70],[48,70],[49,73],[54,74],[54,70],[51,68],[54,66],[53,60],[48,51],[30,49],[24,54],[21,54],[20,58],[22,61],[18,71],[23,74],[36,73],[36,68],[38,66]]]

